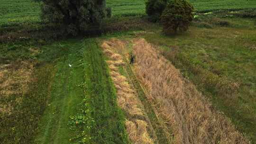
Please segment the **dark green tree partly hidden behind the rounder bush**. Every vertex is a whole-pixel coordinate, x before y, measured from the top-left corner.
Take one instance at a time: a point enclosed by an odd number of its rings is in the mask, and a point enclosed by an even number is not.
[[[167,0],[147,0],[146,1],[146,14],[149,20],[156,22],[162,15],[166,7]]]

